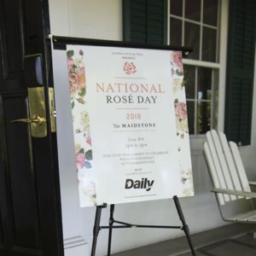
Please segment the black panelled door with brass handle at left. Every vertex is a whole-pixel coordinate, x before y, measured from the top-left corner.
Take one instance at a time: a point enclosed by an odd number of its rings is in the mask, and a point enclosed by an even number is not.
[[[56,138],[49,124],[48,34],[48,1],[0,0],[1,256],[63,255]],[[34,87],[44,88],[41,137],[32,136],[30,124],[12,122],[34,118],[28,99],[28,88]]]

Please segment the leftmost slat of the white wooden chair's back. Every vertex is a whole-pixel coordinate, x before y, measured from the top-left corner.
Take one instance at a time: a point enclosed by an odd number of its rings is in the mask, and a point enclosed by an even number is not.
[[[216,187],[217,189],[227,189],[225,180],[224,180],[224,175],[221,170],[221,166],[218,160],[218,155],[216,152],[216,148],[214,146],[213,140],[212,140],[212,134],[211,131],[207,131],[207,143],[209,146],[210,153],[212,155],[212,161],[213,165],[215,166],[215,171],[216,171],[216,177],[218,177],[218,183],[219,187]],[[230,201],[230,195],[224,195],[224,201]]]

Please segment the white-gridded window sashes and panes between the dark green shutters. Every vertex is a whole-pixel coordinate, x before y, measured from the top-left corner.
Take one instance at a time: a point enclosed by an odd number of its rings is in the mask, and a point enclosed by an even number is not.
[[[168,44],[193,48],[184,59],[189,133],[218,122],[218,0],[169,0]]]

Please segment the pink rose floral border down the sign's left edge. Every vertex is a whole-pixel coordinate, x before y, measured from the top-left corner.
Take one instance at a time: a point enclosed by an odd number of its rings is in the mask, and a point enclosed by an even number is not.
[[[82,49],[77,51],[67,49],[67,68],[79,187],[88,200],[95,205],[95,182],[86,175],[86,172],[90,172],[92,167],[93,154],[90,137],[90,116],[86,105],[86,75]]]

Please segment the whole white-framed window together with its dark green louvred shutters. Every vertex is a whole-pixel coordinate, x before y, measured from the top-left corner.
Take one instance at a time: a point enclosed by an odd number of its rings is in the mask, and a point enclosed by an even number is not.
[[[255,0],[123,0],[125,41],[193,47],[183,60],[190,134],[219,127],[250,144],[255,10]]]

